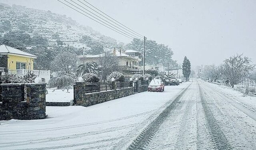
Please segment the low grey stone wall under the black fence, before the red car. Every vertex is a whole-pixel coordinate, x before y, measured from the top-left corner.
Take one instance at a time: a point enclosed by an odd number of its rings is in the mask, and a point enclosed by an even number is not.
[[[123,88],[96,93],[76,94],[76,105],[91,106],[133,94],[133,88]]]

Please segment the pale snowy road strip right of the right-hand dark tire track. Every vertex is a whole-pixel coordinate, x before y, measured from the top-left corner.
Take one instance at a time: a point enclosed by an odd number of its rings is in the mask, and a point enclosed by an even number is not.
[[[205,84],[204,84],[205,85]],[[209,100],[212,102],[212,109],[218,114],[218,119],[222,125],[226,137],[229,139],[230,144],[236,149],[255,148],[255,133],[254,125],[250,124],[250,117],[236,109],[234,106],[226,102],[225,97],[213,90],[210,86],[205,86],[204,90]],[[251,120],[253,122],[253,120]]]

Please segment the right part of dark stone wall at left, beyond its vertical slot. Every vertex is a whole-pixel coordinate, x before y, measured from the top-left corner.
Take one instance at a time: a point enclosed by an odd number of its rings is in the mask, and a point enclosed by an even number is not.
[[[27,119],[46,118],[45,92],[46,83],[26,83],[26,100],[28,104]]]

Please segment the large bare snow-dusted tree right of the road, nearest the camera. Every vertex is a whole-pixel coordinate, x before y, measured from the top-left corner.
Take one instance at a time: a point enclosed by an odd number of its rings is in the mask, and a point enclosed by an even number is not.
[[[251,59],[243,56],[243,54],[236,54],[224,60],[223,76],[230,82],[232,88],[234,84],[238,84],[242,78],[248,77],[249,72],[255,67],[250,64]]]

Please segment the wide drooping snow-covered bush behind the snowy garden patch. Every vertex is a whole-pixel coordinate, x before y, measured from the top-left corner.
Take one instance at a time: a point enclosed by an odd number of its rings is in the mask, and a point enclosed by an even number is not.
[[[49,80],[50,86],[56,86],[58,89],[70,89],[74,84],[74,78],[64,75],[52,77]]]

